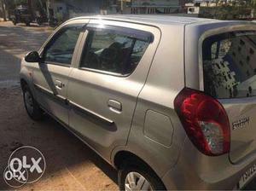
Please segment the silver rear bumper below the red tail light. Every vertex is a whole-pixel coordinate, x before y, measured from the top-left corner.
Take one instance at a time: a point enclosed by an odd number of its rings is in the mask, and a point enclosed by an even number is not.
[[[167,171],[162,181],[171,189],[233,189],[249,167],[256,164],[256,154],[232,165],[229,154],[208,157],[200,153],[187,138],[177,165]]]

